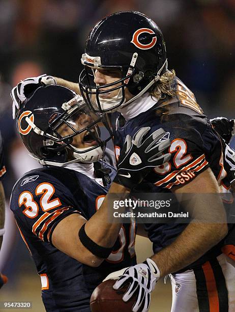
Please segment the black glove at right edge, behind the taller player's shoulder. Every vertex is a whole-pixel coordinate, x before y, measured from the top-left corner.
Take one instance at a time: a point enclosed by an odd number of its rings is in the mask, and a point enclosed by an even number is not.
[[[215,131],[224,139],[228,144],[231,137],[235,135],[234,119],[228,120],[225,117],[217,117],[210,120]]]

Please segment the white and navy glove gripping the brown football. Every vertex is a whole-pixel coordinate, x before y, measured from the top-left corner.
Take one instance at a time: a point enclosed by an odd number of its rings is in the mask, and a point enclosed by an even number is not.
[[[123,301],[127,302],[133,295],[137,295],[132,311],[147,312],[150,307],[151,293],[159,277],[160,270],[156,263],[152,259],[147,258],[144,263],[126,269],[113,285],[113,289],[118,290],[130,283],[129,288],[123,295]]]

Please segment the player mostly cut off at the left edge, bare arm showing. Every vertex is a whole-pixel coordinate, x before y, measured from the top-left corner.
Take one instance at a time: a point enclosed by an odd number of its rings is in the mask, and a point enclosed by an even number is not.
[[[3,159],[3,139],[0,133],[0,249],[3,242],[3,235],[5,233],[4,222],[5,222],[5,194],[2,177],[6,173],[6,167],[4,166]],[[7,276],[0,273],[0,288],[8,281]]]

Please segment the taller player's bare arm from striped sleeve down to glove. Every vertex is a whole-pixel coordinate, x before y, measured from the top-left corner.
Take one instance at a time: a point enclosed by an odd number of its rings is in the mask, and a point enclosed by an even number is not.
[[[153,256],[161,276],[192,264],[227,233],[226,213],[211,169],[174,193],[193,221],[172,244]]]

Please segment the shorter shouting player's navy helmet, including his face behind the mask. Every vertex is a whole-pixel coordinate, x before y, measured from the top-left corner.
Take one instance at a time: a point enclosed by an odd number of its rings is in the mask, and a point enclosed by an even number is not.
[[[17,129],[25,147],[42,165],[97,162],[109,138],[101,141],[97,123],[102,120],[93,115],[80,95],[49,85],[36,89],[21,104]],[[79,147],[75,146],[78,141]]]

